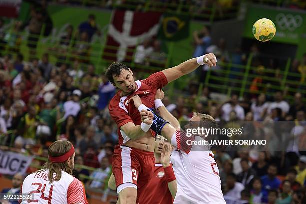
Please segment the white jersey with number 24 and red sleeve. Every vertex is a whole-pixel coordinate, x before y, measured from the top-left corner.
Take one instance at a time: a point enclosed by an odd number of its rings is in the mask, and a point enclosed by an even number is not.
[[[59,181],[49,183],[49,170],[28,175],[22,184],[22,193],[33,194],[34,199],[22,200],[22,204],[87,204],[83,184],[72,175],[61,171]]]

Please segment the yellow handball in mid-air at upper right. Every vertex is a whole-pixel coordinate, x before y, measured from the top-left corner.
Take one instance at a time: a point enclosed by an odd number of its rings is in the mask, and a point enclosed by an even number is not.
[[[253,35],[259,41],[269,41],[275,36],[275,33],[275,24],[270,19],[262,18],[253,25]]]

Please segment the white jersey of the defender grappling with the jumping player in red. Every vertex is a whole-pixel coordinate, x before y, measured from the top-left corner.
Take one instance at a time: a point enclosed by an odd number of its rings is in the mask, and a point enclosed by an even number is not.
[[[195,140],[200,139],[195,137]],[[219,169],[209,148],[193,146],[188,154],[175,149],[171,162],[177,180],[174,203],[226,203],[221,190]]]

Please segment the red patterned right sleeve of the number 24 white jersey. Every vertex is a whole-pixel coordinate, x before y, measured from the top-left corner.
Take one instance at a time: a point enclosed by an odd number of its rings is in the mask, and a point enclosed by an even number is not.
[[[74,178],[73,181],[70,183],[67,192],[67,202],[68,204],[73,203],[82,203],[88,204],[85,194],[85,188],[81,181]]]

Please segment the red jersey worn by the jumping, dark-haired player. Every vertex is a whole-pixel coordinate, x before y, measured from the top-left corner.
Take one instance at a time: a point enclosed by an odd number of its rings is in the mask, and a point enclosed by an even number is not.
[[[133,122],[135,125],[141,124],[141,117],[134,103],[129,103],[132,95],[139,95],[142,103],[149,107],[155,107],[155,94],[157,89],[162,88],[168,83],[168,80],[163,72],[159,71],[150,75],[144,80],[135,81],[138,88],[130,95],[120,96],[121,90],[110,100],[109,113],[111,118],[118,125],[119,145],[126,143],[130,138],[120,130],[120,127],[128,122]]]

